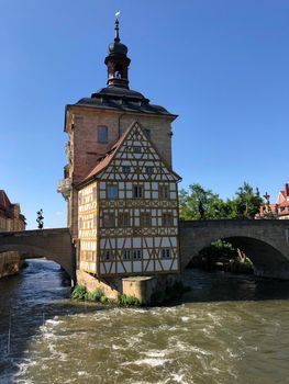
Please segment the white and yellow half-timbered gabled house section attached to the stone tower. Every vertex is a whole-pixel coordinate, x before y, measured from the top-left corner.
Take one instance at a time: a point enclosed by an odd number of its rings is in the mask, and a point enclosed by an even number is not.
[[[79,188],[80,269],[99,276],[179,270],[179,177],[135,122]]]

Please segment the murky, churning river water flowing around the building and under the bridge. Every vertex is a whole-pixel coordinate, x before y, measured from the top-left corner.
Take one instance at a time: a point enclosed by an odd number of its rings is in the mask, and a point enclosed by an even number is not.
[[[0,281],[0,383],[289,383],[289,282],[185,281],[174,305],[118,308],[71,302],[58,266],[29,261]]]

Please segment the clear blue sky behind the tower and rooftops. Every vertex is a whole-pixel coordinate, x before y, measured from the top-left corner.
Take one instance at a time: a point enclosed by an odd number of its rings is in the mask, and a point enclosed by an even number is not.
[[[288,0],[1,0],[0,189],[27,228],[66,224],[65,104],[105,86],[121,10],[131,89],[179,115],[174,168],[222,197],[288,177]]]

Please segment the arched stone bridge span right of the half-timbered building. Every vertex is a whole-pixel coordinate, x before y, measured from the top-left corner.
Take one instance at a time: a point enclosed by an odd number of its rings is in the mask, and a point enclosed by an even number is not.
[[[182,270],[200,250],[223,239],[251,258],[255,274],[289,279],[289,221],[189,221],[179,225]]]

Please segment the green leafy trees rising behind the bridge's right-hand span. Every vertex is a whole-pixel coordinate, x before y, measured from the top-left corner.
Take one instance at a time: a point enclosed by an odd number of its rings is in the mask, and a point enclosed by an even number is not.
[[[189,185],[179,192],[180,219],[254,218],[263,203],[258,189],[244,182],[233,199],[222,200],[219,194],[200,184]]]

